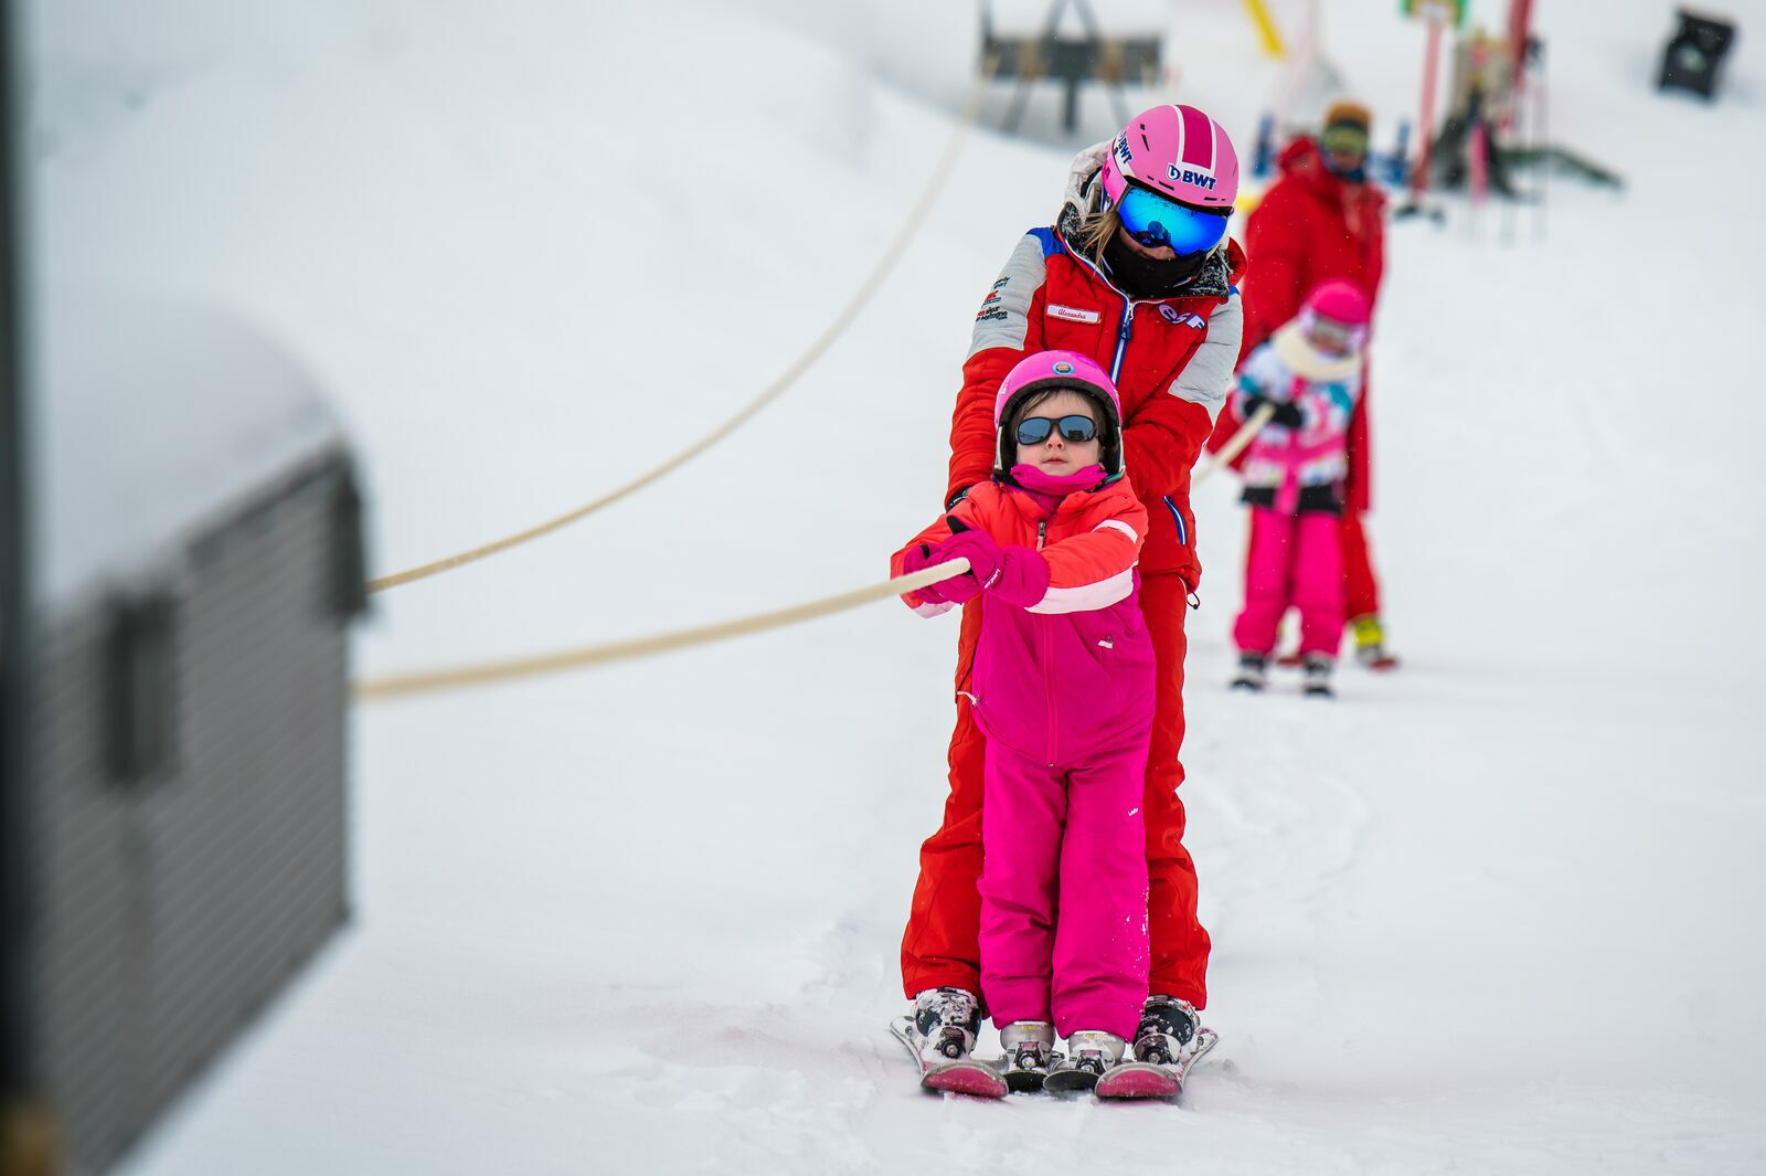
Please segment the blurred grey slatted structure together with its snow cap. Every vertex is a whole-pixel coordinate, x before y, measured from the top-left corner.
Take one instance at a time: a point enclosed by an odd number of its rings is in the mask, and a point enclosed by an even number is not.
[[[330,413],[253,330],[88,295],[35,321],[21,987],[60,1172],[92,1176],[346,918],[362,530]]]

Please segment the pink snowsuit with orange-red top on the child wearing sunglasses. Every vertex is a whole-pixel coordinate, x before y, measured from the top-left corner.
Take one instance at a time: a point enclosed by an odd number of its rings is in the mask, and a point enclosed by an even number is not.
[[[1015,584],[982,599],[964,687],[987,735],[982,996],[1001,1026],[1053,1021],[1063,1037],[1128,1038],[1150,964],[1141,802],[1153,645],[1136,600],[1146,509],[1127,480],[1098,484],[1104,475],[1091,470],[1090,480],[1026,479],[1031,491],[996,475],[950,517],[992,535]],[[931,544],[950,533],[934,523],[894,567],[917,547],[938,562]],[[918,593],[906,600],[922,614],[950,607]]]

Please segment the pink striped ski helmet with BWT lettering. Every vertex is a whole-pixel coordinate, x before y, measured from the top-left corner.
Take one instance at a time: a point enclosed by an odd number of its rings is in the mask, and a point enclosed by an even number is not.
[[[1226,127],[1194,106],[1155,106],[1128,120],[1104,159],[1104,194],[1113,205],[1130,180],[1196,208],[1231,208],[1238,152]]]

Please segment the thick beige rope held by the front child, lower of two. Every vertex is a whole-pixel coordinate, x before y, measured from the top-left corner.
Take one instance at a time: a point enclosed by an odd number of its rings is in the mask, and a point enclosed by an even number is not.
[[[717,625],[701,625],[699,629],[683,629],[680,632],[664,632],[650,637],[632,637],[630,641],[592,645],[581,650],[563,650],[560,653],[542,653],[539,657],[517,657],[505,662],[484,662],[479,666],[431,669],[396,675],[390,678],[369,678],[355,685],[355,696],[362,701],[397,697],[401,694],[422,694],[426,690],[443,690],[449,687],[484,685],[487,682],[507,682],[509,678],[528,678],[533,675],[556,673],[560,669],[581,669],[583,666],[600,666],[606,662],[622,662],[632,657],[648,657],[650,653],[666,653],[668,650],[682,650],[691,645],[708,645],[726,637],[740,637],[752,632],[766,632],[768,629],[782,629],[786,625],[796,625],[798,622],[814,620],[818,616],[828,616],[830,613],[844,613],[846,609],[855,609],[860,604],[871,604],[872,600],[913,592],[915,588],[925,588],[927,584],[936,584],[941,579],[950,579],[952,576],[961,576],[968,570],[970,562],[957,556],[955,560],[947,560],[945,563],[938,563],[908,576],[897,576],[895,579],[881,584],[842,592],[837,597],[823,597],[821,600],[811,600],[807,604],[796,604],[788,609],[775,609],[758,616],[738,616],[736,620],[721,622]]]

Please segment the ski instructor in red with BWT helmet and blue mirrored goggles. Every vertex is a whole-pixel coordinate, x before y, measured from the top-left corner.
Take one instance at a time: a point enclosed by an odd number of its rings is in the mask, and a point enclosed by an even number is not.
[[[1183,618],[1201,579],[1189,491],[1238,364],[1243,314],[1234,283],[1245,254],[1226,235],[1236,194],[1233,143],[1194,106],[1143,111],[1113,141],[1074,159],[1056,222],[1017,242],[975,316],[950,422],[945,501],[954,507],[992,477],[994,396],[1014,364],[1063,350],[1109,373],[1121,394],[1127,477],[1150,519],[1137,574],[1157,666],[1144,793],[1151,975],[1134,1056],[1180,1065],[1201,1049],[1196,1010],[1208,999],[1208,932],[1196,916],[1196,865],[1178,800]],[[962,609],[950,798],[943,825],[920,848],[901,945],[918,1033],[955,1038],[964,1051],[982,1012],[984,747],[968,694],[982,607],[977,597]]]

